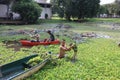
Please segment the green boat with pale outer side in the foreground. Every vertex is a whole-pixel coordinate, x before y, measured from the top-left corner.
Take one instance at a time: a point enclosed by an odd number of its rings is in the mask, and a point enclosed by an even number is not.
[[[26,64],[31,58],[38,56],[31,55],[17,61],[0,66],[0,80],[21,80],[41,69],[49,60],[46,59],[40,64],[29,68]],[[27,65],[27,67],[26,67]],[[26,69],[27,68],[27,69]]]

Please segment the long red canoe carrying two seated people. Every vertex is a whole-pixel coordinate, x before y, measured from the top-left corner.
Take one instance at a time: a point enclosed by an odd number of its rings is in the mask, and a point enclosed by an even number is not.
[[[22,46],[37,46],[37,45],[55,45],[60,44],[59,40],[50,41],[50,42],[37,42],[37,41],[30,41],[30,40],[20,40],[19,41]]]

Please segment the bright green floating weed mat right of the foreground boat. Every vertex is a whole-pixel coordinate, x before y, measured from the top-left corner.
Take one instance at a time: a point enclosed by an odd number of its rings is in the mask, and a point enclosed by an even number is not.
[[[71,58],[73,52],[68,52]],[[110,39],[90,39],[78,45],[77,61],[58,59],[26,80],[119,80],[120,48]]]

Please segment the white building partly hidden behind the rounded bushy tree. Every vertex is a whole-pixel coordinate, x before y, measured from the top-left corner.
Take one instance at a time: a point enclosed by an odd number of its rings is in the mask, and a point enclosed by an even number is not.
[[[19,19],[20,15],[11,11],[15,0],[0,0],[0,19]],[[41,7],[40,19],[51,19],[51,4],[47,0],[35,0]]]

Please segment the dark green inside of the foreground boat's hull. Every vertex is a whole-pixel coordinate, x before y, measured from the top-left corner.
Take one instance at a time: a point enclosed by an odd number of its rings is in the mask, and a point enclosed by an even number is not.
[[[38,54],[33,54],[19,60],[4,64],[0,66],[0,80],[9,80],[8,78],[23,72],[25,65],[30,59],[37,57]]]

